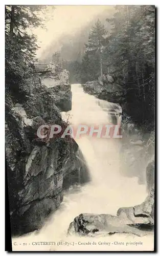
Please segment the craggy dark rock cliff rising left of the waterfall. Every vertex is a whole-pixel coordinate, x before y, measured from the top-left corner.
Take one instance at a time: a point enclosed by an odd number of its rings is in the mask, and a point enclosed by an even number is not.
[[[61,119],[55,98],[56,92],[51,93],[38,77],[32,78],[24,103],[6,98],[6,164],[13,235],[42,226],[63,200],[64,180],[68,179],[68,186],[89,180],[85,160],[73,139],[37,137],[41,124],[68,125]],[[63,111],[68,109],[63,104]]]

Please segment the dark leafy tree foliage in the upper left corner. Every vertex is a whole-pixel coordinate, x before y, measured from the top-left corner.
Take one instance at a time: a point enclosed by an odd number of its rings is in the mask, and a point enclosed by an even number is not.
[[[6,96],[24,101],[33,62],[38,49],[36,36],[31,29],[43,22],[38,12],[41,6],[5,6],[6,36]]]

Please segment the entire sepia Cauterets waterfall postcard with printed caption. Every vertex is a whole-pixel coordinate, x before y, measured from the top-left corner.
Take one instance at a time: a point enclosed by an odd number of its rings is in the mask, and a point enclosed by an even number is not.
[[[155,17],[5,5],[6,250],[155,251]]]

